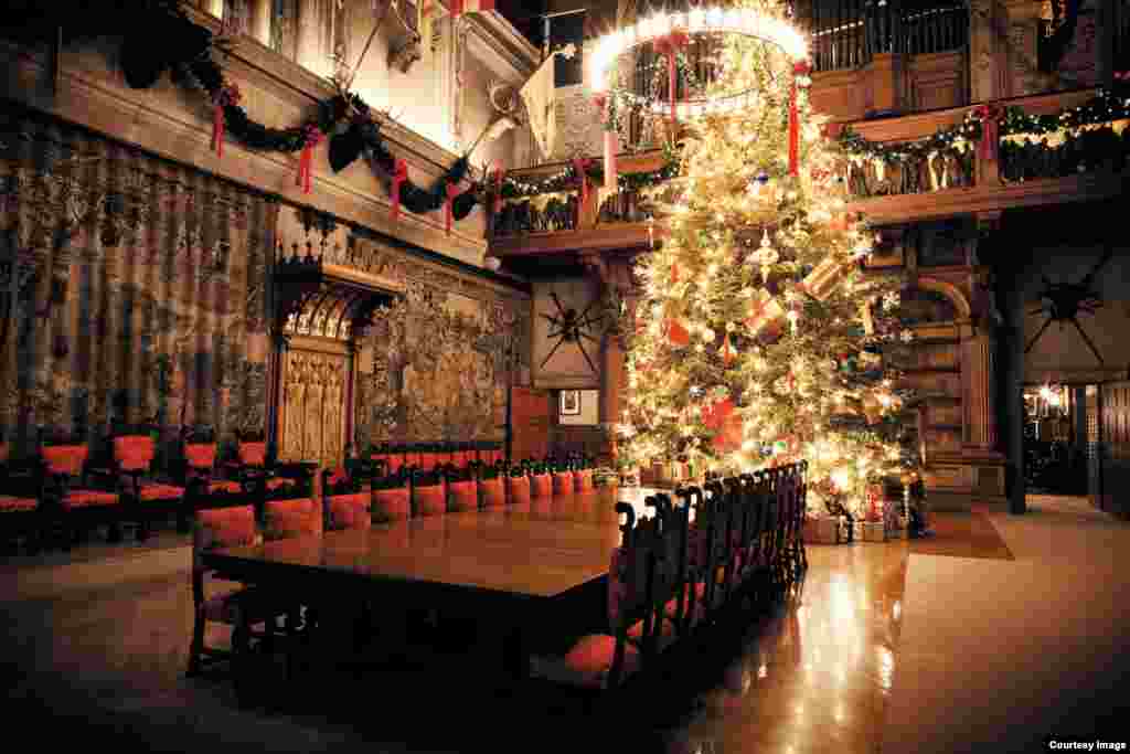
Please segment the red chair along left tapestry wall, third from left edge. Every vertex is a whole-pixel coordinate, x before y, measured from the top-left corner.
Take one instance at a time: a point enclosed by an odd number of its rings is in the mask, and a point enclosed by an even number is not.
[[[111,442],[127,515],[137,522],[137,537],[141,540],[148,536],[154,520],[183,514],[184,487],[153,476],[157,441],[146,427],[125,431]]]

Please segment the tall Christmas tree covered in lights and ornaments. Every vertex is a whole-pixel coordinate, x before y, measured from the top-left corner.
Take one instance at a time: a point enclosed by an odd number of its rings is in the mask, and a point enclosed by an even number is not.
[[[784,18],[772,0],[745,8]],[[876,233],[845,210],[807,64],[730,34],[715,66],[706,98],[749,105],[683,124],[663,242],[638,266],[621,461],[730,474],[806,459],[809,506],[859,512],[868,484],[916,461],[903,281],[864,272]]]

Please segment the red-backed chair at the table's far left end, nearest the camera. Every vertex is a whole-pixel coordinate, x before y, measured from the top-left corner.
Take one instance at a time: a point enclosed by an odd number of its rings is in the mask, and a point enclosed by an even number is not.
[[[260,589],[228,582],[223,590],[209,588],[215,572],[205,567],[201,555],[209,549],[257,545],[262,536],[255,526],[251,505],[200,510],[194,513],[192,536],[192,643],[189,647],[189,675],[197,675],[207,665],[231,659],[229,650],[207,647],[205,629],[209,622],[233,626],[232,647],[246,650],[252,639],[271,639],[277,619],[282,614]],[[259,631],[254,626],[262,626]]]

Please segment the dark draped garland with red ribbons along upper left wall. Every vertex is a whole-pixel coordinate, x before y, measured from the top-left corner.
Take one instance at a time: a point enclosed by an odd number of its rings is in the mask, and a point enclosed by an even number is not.
[[[63,25],[69,27],[68,38],[121,34],[121,29],[125,29],[121,64],[127,83],[133,88],[147,89],[160,79],[162,73],[172,70],[174,80],[182,85],[198,85],[207,92],[214,110],[212,144],[217,153],[221,149],[225,133],[252,149],[302,151],[299,183],[308,187],[313,147],[329,137],[329,159],[334,172],[357,157],[367,156],[376,168],[399,185],[399,203],[411,213],[434,211],[445,207],[450,200],[452,216],[462,219],[478,203],[481,183],[472,182],[469,190],[458,196],[447,188],[458,187],[467,180],[470,168],[467,155],[457,159],[431,188],[417,187],[406,176],[398,180],[400,161],[381,137],[380,123],[372,111],[356,94],[341,90],[320,102],[316,114],[299,125],[277,129],[253,120],[240,105],[238,87],[225,81],[223,70],[212,60],[217,50],[224,51],[224,38],[215,38],[210,29],[194,24],[175,0],[119,0],[106,2],[96,14],[87,5],[75,0],[56,3],[51,8],[50,17],[36,19],[40,23],[35,25],[34,33],[42,35],[51,28],[46,21],[58,23],[58,19],[63,19]],[[67,24],[68,19],[77,20]],[[76,27],[76,24],[86,28]]]

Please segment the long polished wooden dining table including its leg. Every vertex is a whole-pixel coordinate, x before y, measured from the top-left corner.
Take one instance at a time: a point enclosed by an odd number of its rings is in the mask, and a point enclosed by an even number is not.
[[[401,605],[501,618],[508,630],[507,666],[524,677],[527,632],[539,612],[607,575],[620,541],[619,497],[615,487],[598,488],[523,506],[217,549],[202,561],[220,578],[323,608],[379,593]],[[636,508],[637,495],[626,497]]]

